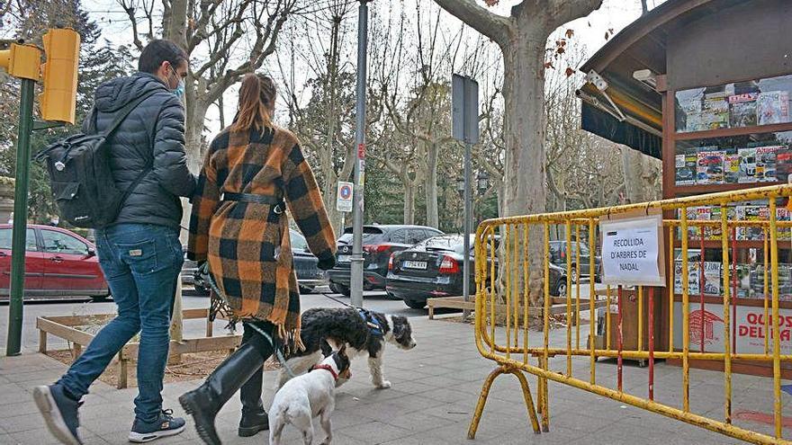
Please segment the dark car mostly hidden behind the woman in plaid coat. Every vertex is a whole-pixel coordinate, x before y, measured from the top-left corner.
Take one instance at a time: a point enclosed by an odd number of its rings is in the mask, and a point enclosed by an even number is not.
[[[297,272],[297,283],[300,285],[302,293],[311,293],[317,286],[324,286],[328,283],[325,271],[320,270],[316,265],[319,260],[311,254],[305,237],[296,230],[290,229],[289,235],[292,241],[292,257],[294,270]],[[193,286],[196,292],[202,295],[209,295],[211,285],[203,280],[198,273],[198,263],[188,260],[186,257],[186,246],[184,249],[184,266],[182,266],[182,284]]]

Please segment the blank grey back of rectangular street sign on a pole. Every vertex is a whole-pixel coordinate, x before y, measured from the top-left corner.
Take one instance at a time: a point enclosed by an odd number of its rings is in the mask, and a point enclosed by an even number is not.
[[[451,77],[452,136],[467,144],[479,142],[479,84],[470,77]]]

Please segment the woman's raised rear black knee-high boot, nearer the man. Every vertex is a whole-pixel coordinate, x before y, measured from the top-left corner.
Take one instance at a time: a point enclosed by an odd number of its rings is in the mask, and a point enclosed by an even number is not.
[[[214,428],[215,416],[222,405],[225,405],[254,374],[261,375],[264,361],[272,354],[271,348],[272,346],[261,335],[253,335],[228,359],[220,363],[200,387],[179,397],[179,403],[184,411],[193,416],[195,429],[204,442],[220,445],[220,437]]]

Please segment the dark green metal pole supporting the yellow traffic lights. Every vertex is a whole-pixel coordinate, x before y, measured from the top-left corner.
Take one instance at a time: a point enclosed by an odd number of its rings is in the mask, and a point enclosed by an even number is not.
[[[33,127],[33,87],[36,82],[22,79],[19,106],[19,133],[16,141],[16,180],[14,182],[14,232],[11,242],[11,298],[8,305],[8,341],[5,354],[22,350],[24,260],[28,222],[28,175],[31,167]]]

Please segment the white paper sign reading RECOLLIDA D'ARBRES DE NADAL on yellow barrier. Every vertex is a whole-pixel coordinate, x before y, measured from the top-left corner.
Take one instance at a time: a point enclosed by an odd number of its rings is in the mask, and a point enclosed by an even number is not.
[[[661,275],[661,215],[602,220],[602,282],[633,286],[665,286]]]

